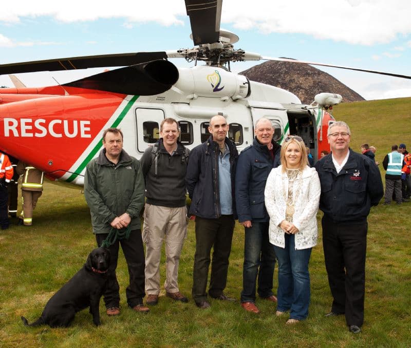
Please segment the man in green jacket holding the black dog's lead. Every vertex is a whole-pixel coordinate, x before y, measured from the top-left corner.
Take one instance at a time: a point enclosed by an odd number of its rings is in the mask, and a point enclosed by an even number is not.
[[[130,228],[128,238],[116,240],[109,246],[111,263],[104,292],[107,315],[120,314],[120,287],[116,277],[119,244],[129,273],[127,304],[137,312],[148,312],[149,308],[143,305],[145,261],[140,224],[144,179],[140,162],[123,150],[123,133],[120,129],[108,128],[103,132],[103,149],[98,158],[87,164],[84,196],[99,246],[110,231]]]

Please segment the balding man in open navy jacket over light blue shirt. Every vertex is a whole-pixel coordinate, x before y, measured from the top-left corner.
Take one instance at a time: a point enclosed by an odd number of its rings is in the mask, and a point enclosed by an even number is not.
[[[202,309],[210,307],[206,288],[212,247],[209,295],[215,299],[233,301],[223,293],[237,219],[234,182],[238,152],[234,143],[226,137],[228,128],[227,120],[220,115],[210,120],[211,136],[190,152],[185,177],[191,198],[190,213],[196,217],[192,296]]]

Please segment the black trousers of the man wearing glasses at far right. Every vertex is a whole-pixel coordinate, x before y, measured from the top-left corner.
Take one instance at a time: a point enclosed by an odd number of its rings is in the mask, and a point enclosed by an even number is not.
[[[347,325],[364,322],[367,221],[322,220],[325,267],[333,302],[331,311],[345,313]]]

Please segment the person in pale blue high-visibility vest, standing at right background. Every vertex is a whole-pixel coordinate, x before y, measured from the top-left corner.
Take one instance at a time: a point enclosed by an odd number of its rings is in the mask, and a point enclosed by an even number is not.
[[[391,204],[393,191],[397,204],[402,203],[401,192],[401,168],[404,161],[404,155],[398,152],[398,145],[391,146],[391,152],[386,154],[382,165],[387,171],[385,173],[385,196],[383,205]]]

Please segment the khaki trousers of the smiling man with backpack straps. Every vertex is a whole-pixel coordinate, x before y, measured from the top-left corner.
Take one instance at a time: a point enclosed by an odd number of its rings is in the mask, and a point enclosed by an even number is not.
[[[187,208],[162,207],[145,204],[143,241],[145,243],[145,293],[160,293],[161,247],[165,239],[165,282],[166,292],[178,289],[178,264],[184,239],[187,237]]]

